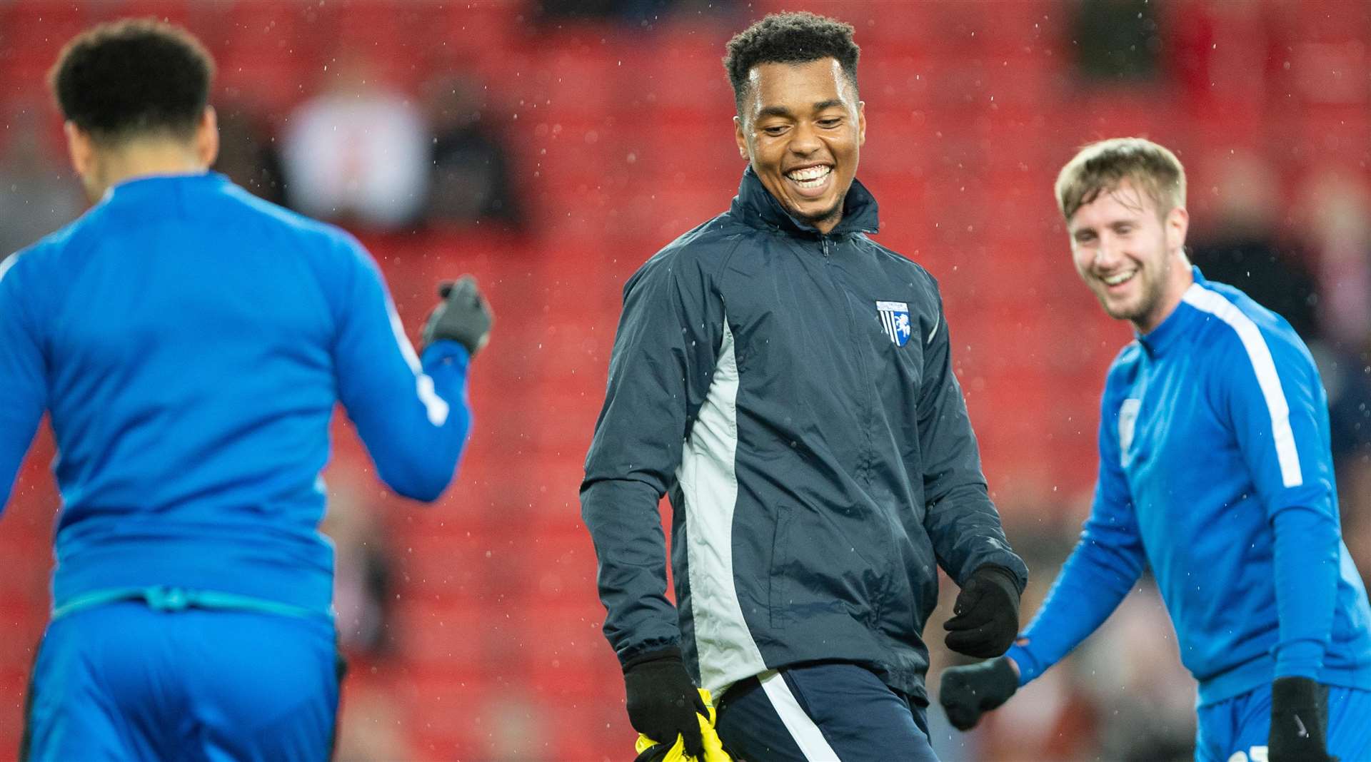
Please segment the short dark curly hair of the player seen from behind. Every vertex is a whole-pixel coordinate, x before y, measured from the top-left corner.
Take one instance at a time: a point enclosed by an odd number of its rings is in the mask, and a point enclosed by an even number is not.
[[[193,134],[213,78],[214,59],[189,32],[156,19],[125,19],[67,42],[48,85],[67,121],[97,143],[118,143]]]

